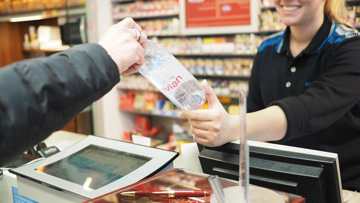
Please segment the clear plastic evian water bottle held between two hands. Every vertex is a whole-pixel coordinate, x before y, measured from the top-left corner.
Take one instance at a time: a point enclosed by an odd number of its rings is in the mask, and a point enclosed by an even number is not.
[[[198,109],[206,100],[199,81],[165,47],[151,40],[139,72],[181,110]]]

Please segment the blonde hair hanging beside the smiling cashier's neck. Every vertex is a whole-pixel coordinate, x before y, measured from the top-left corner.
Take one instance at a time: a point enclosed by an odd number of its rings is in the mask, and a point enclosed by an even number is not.
[[[347,22],[345,0],[327,0],[325,2],[324,12],[331,20],[339,24],[354,28],[354,26]]]

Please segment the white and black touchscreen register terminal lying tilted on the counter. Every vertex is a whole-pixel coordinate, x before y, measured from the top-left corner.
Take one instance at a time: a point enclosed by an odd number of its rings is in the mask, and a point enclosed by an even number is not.
[[[83,202],[174,168],[178,152],[88,135],[43,160],[9,170],[36,202]]]

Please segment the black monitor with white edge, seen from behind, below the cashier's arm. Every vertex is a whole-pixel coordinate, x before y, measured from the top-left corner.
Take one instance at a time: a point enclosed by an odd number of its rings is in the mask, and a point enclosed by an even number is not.
[[[239,180],[237,143],[198,144],[203,173]],[[301,195],[306,203],[341,203],[337,154],[249,141],[250,184]]]

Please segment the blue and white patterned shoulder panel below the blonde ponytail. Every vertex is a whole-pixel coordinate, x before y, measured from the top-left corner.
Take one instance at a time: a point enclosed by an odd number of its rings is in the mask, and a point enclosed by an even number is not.
[[[360,36],[359,31],[356,29],[349,28],[345,25],[337,24],[333,22],[333,25],[335,24],[334,30],[331,32],[331,34],[328,36],[327,39],[321,44],[318,51],[324,46],[326,42],[330,44],[338,44],[342,42],[345,39]]]

